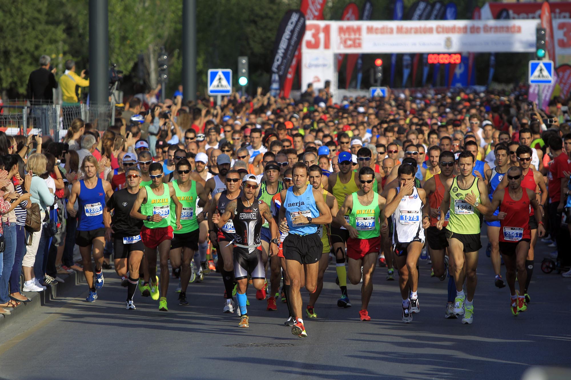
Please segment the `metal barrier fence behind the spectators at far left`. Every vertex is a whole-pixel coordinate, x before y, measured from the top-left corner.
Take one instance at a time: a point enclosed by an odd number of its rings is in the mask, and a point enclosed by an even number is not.
[[[0,106],[0,130],[8,135],[42,134],[59,141],[75,118],[91,123],[98,131],[106,131],[114,122],[115,104],[30,104],[26,100],[10,100]]]

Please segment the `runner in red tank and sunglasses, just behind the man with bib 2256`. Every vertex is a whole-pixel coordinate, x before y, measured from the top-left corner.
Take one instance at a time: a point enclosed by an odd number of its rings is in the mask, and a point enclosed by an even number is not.
[[[548,192],[545,187],[545,180],[540,172],[536,171],[531,164],[533,160],[532,148],[526,145],[520,145],[516,150],[517,160],[520,163],[520,168],[523,172],[521,186],[530,189],[536,194],[536,199],[539,198],[539,205],[541,207],[541,217],[543,217],[544,204],[547,200]],[[496,191],[506,188],[508,185],[508,178],[504,176],[500,184],[498,184]],[[531,241],[529,244],[528,258],[525,260],[525,267],[527,271],[527,280],[525,283],[525,301],[531,301],[528,293],[529,282],[532,280],[533,274],[533,258],[534,249],[537,242],[537,219],[533,208],[529,209],[529,229],[531,230]]]

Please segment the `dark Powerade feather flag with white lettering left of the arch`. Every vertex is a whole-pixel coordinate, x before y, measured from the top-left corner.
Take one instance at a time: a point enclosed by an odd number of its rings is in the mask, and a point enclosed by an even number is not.
[[[299,10],[289,10],[282,18],[274,42],[274,59],[272,59],[272,82],[270,92],[278,96],[282,83],[287,76],[293,55],[305,33],[305,16]]]

